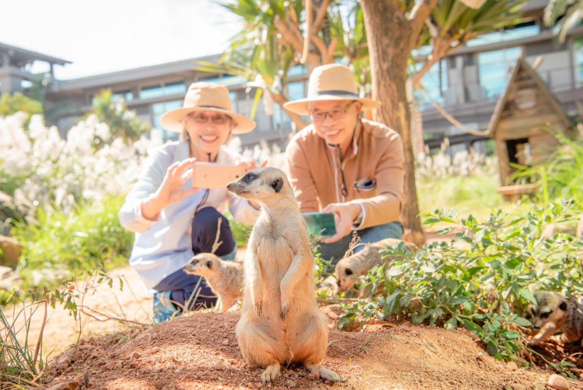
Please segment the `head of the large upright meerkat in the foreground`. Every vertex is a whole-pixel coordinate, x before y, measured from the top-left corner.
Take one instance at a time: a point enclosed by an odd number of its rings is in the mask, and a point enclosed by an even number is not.
[[[282,199],[296,201],[286,174],[271,167],[250,170],[243,177],[227,184],[227,190],[242,198],[264,204]]]

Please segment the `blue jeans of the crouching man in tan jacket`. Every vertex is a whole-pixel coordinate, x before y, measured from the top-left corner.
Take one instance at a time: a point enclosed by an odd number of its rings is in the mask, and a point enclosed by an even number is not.
[[[381,241],[385,238],[402,239],[403,227],[399,222],[389,222],[388,224],[362,229],[356,233],[360,237],[359,243],[373,243]],[[344,236],[343,238],[333,243],[326,244],[320,242],[319,245],[321,246],[320,253],[322,255],[322,259],[329,260],[333,258],[332,265],[335,266],[336,263],[338,263],[338,261],[344,257],[344,254],[348,250],[351,241],[352,234]],[[363,248],[364,245],[357,246],[354,248],[354,253],[360,252],[360,250]]]

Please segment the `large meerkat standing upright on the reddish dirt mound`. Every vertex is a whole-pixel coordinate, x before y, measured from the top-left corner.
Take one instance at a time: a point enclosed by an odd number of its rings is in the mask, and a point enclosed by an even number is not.
[[[320,365],[328,348],[328,318],[315,300],[314,256],[285,173],[251,170],[227,189],[261,204],[247,246],[236,327],[243,357],[251,367],[266,367],[265,383],[278,377],[281,363],[303,363],[312,375],[340,381]]]

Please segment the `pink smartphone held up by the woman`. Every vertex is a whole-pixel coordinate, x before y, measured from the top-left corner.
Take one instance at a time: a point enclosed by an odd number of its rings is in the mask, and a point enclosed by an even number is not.
[[[197,162],[192,166],[192,187],[226,190],[227,183],[245,175],[243,165]]]

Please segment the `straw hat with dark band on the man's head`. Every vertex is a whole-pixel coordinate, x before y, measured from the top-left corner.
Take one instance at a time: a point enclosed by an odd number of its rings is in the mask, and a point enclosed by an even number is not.
[[[340,64],[321,65],[314,68],[308,81],[308,97],[291,100],[283,107],[293,113],[309,115],[308,103],[322,100],[357,100],[363,110],[372,110],[381,106],[381,102],[360,97],[356,81],[348,67]]]

